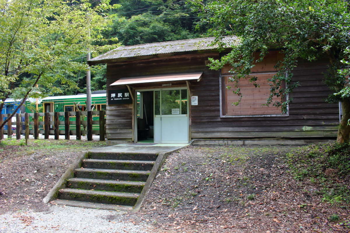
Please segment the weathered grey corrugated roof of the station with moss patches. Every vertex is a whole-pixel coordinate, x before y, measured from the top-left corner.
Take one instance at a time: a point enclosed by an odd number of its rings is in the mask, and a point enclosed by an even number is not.
[[[215,37],[207,37],[196,39],[184,39],[180,41],[167,41],[151,44],[122,46],[97,57],[94,57],[90,61],[92,61],[93,63],[104,63],[102,61],[127,57],[217,49],[218,45],[211,45],[212,42],[214,42],[214,40]],[[226,45],[226,48],[230,48],[232,45],[237,45],[239,43],[239,39],[237,38],[237,36],[224,36],[222,38],[222,42]]]

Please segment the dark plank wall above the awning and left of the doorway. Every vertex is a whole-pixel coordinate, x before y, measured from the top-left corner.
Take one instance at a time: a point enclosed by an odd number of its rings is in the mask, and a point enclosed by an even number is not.
[[[218,55],[218,53],[202,53],[107,64],[107,96],[109,90],[127,89],[126,86],[110,86],[119,78],[149,74],[202,71],[207,69],[205,62],[208,60],[208,57],[218,58]],[[145,83],[130,86],[132,88],[152,88],[162,87],[162,83]],[[186,83],[172,82],[172,85],[167,87],[174,86],[185,87]],[[108,139],[132,139],[132,104],[109,105],[107,100],[106,115],[106,137]]]

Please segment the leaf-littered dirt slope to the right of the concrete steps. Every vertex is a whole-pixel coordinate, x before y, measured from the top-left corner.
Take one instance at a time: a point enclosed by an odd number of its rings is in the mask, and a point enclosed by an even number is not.
[[[289,146],[191,146],[170,155],[140,212],[154,232],[350,232],[349,205],[321,202],[282,158]],[[331,221],[331,216],[338,216]]]

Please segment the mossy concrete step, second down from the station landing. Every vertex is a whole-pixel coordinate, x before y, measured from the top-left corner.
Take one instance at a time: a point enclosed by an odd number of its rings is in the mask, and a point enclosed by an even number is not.
[[[152,170],[154,161],[145,160],[111,160],[111,159],[84,159],[83,167],[123,170]]]

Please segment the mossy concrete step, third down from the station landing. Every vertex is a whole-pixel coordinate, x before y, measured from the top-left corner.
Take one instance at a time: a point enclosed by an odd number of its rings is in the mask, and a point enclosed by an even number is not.
[[[102,180],[146,181],[150,171],[138,170],[113,170],[98,168],[75,169],[75,177]]]

